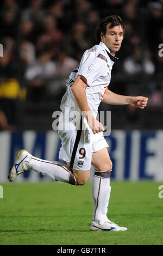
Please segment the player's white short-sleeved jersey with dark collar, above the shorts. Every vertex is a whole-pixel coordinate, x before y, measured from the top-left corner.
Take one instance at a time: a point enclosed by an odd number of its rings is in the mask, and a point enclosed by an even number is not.
[[[96,118],[99,104],[109,86],[112,65],[116,59],[110,54],[108,47],[103,42],[86,50],[78,68],[71,72],[66,81],[67,91],[61,100],[61,110],[64,111],[65,107],[69,107],[72,111],[80,111],[71,91],[72,83],[80,75],[86,78],[86,99],[93,116]]]

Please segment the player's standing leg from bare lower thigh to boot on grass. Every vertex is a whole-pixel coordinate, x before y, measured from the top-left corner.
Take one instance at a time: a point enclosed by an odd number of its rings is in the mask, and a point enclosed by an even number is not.
[[[104,148],[93,153],[92,164],[95,167],[95,174],[92,180],[93,221],[90,229],[93,231],[124,231],[127,228],[119,227],[108,220],[106,215],[111,192],[110,176],[112,170],[112,162],[108,150]]]

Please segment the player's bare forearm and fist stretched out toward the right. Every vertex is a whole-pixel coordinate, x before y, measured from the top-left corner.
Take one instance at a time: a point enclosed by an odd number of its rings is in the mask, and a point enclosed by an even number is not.
[[[143,109],[147,106],[148,98],[143,96],[124,96],[107,89],[102,102],[110,105],[131,105]]]

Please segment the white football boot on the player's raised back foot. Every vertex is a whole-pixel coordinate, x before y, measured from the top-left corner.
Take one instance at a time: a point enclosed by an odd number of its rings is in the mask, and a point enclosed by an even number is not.
[[[26,172],[28,170],[25,161],[30,159],[32,155],[28,153],[28,151],[21,149],[17,152],[17,156],[15,157],[16,161],[14,165],[11,167],[8,179],[9,181],[13,181],[17,175]]]

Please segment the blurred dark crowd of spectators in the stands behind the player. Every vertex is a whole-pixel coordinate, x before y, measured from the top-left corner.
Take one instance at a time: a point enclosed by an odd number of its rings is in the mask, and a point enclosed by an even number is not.
[[[17,100],[40,102],[47,91],[61,96],[83,52],[96,44],[98,22],[111,14],[125,27],[112,71],[120,77],[117,91],[144,93],[150,109],[163,111],[163,0],[3,0],[0,6],[0,129],[14,130]]]

